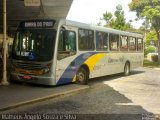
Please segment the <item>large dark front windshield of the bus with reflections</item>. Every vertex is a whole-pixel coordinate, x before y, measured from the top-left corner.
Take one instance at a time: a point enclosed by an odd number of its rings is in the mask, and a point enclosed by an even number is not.
[[[18,29],[12,58],[26,61],[49,61],[53,58],[56,39],[54,29]]]

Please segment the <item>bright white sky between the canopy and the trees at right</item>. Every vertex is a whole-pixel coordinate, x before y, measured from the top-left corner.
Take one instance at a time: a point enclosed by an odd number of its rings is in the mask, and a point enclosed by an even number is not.
[[[67,19],[87,24],[97,24],[103,13],[111,12],[114,14],[116,6],[122,5],[126,22],[134,20],[136,13],[129,11],[128,4],[132,0],[73,0]],[[103,22],[102,22],[103,23]],[[133,22],[134,28],[139,28],[142,21]]]

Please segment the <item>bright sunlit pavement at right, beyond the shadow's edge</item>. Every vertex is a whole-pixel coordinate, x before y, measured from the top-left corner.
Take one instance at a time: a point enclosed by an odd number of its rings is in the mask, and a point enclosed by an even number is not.
[[[132,102],[121,105],[140,105],[148,112],[160,114],[160,68],[139,68],[128,77],[105,81]]]

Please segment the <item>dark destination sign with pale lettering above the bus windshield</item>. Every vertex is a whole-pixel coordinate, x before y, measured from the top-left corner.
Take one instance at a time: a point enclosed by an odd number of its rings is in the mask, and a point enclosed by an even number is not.
[[[55,21],[24,21],[21,23],[21,27],[25,28],[51,28],[55,24]]]

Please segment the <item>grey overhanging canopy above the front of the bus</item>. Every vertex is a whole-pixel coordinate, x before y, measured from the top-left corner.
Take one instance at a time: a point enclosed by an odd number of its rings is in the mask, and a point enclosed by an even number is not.
[[[40,6],[25,6],[24,0],[7,0],[7,30],[15,31],[20,21],[36,18],[65,19],[73,0],[40,0]],[[3,31],[3,0],[0,1],[0,33]]]

